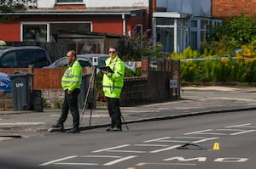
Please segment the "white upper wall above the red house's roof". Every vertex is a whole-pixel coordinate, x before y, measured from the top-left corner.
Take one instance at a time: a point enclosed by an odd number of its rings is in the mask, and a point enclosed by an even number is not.
[[[86,8],[148,7],[149,0],[84,0]],[[38,8],[53,8],[55,0],[38,0]]]

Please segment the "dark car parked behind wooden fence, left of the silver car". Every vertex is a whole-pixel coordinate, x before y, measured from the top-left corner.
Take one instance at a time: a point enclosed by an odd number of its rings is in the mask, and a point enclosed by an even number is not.
[[[28,65],[41,68],[50,64],[49,54],[44,48],[37,46],[0,46],[1,68],[27,68]]]

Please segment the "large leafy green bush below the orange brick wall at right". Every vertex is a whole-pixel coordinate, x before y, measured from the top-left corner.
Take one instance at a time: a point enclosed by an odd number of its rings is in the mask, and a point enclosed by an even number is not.
[[[256,18],[241,14],[222,25],[210,26],[207,42],[202,42],[204,55],[232,56],[236,48],[253,41],[256,35]]]

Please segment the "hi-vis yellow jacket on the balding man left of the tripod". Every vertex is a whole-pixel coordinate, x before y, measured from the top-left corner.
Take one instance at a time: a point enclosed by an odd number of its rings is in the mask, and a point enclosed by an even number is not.
[[[70,65],[67,65],[67,70],[61,78],[61,86],[64,90],[73,91],[75,88],[80,88],[82,83],[82,67],[76,59]]]

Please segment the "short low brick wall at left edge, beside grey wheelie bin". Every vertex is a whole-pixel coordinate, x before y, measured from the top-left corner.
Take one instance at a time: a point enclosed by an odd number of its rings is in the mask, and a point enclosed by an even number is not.
[[[3,90],[0,90],[0,110],[12,110],[12,94],[4,93]]]

